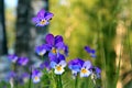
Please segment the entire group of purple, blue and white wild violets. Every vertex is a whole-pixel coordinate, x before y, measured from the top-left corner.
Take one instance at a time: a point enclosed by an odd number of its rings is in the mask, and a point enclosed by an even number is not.
[[[41,10],[32,21],[36,24],[36,26],[45,26],[50,24],[50,20],[53,18],[53,13],[46,12],[45,10]],[[89,46],[85,46],[85,51],[94,58],[96,58],[96,51],[90,48]],[[72,70],[73,77],[89,77],[94,82],[96,82],[97,78],[100,78],[100,68],[96,67],[91,64],[90,61],[84,61],[81,58],[75,58],[66,62],[66,57],[68,56],[68,46],[65,44],[62,35],[53,35],[48,33],[45,36],[45,43],[35,47],[35,53],[44,58],[47,55],[47,58],[43,59],[44,62],[40,65],[38,68],[34,68],[30,66],[29,75],[22,75],[21,77],[32,78],[32,81],[37,84],[41,81],[43,77],[43,69],[46,68],[47,72],[54,70],[54,74],[59,76],[65,73],[65,67],[68,67]],[[26,57],[18,57],[16,55],[9,55],[9,59],[12,63],[15,63],[20,66],[25,66],[29,63],[29,58]],[[11,78],[16,77],[15,72],[11,72],[9,75]],[[61,80],[59,80],[61,82]],[[62,88],[62,86],[57,87]]]

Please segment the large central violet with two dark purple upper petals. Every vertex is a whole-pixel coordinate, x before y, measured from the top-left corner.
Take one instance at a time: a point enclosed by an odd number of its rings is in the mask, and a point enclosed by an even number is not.
[[[53,34],[47,34],[46,43],[48,46],[51,46],[51,50],[47,50],[50,51],[50,58],[56,58],[56,56],[58,57],[59,55],[67,55],[68,47],[64,44],[63,37],[61,35],[54,36]]]

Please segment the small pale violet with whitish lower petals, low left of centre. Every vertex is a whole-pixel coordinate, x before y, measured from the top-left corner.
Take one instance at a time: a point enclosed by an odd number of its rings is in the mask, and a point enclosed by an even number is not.
[[[41,70],[34,69],[34,70],[32,72],[32,79],[33,79],[33,82],[34,82],[34,84],[40,82],[40,81],[41,81],[41,77],[42,77]]]

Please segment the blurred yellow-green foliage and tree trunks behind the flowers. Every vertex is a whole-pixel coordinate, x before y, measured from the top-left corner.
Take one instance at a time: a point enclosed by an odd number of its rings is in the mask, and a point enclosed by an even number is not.
[[[31,20],[42,8],[54,13],[45,28]],[[80,57],[99,66],[102,88],[132,88],[132,0],[0,0],[0,80],[10,70],[8,54],[37,65],[34,47],[47,33],[64,36],[67,61]],[[97,58],[90,58],[85,45],[96,50]]]

